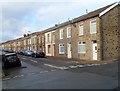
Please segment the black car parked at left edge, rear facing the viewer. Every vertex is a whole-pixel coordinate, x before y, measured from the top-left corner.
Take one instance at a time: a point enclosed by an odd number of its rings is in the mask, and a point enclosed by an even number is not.
[[[16,53],[0,51],[0,61],[2,61],[2,68],[21,66],[21,61]]]

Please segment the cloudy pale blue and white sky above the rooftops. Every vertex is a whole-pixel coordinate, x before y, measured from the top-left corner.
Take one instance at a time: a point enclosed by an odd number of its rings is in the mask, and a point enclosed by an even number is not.
[[[8,2],[9,1],[9,2]],[[26,1],[26,2],[25,2]],[[0,42],[41,31],[119,0],[1,0]],[[2,35],[2,36],[1,36]]]

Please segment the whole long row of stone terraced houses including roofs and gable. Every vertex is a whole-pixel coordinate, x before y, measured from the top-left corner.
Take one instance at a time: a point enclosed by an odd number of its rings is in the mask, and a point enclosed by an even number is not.
[[[92,61],[120,59],[120,3],[21,39],[24,45],[19,49],[42,50],[47,56]],[[15,41],[12,41],[14,45]],[[7,43],[2,43],[1,47],[6,48]]]

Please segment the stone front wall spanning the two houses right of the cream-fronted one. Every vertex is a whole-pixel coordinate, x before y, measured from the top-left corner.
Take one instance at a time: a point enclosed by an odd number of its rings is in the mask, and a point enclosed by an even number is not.
[[[97,33],[90,34],[90,21],[96,19],[97,21]],[[84,23],[84,35],[79,36],[79,25],[80,23]],[[67,38],[67,27],[71,27],[71,38]],[[60,39],[59,30],[63,29],[64,38]],[[99,18],[94,17],[91,19],[87,19],[81,22],[77,22],[74,24],[69,24],[67,26],[61,27],[56,30],[56,56],[57,57],[66,57],[67,58],[67,43],[71,44],[71,53],[73,59],[80,60],[92,60],[92,41],[97,41],[97,59],[100,60],[100,31],[99,31]],[[86,43],[86,53],[78,53],[78,42],[83,41]],[[59,54],[59,44],[64,43],[65,53]]]

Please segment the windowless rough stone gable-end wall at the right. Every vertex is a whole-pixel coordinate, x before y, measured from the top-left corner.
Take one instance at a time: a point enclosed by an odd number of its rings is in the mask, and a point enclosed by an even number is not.
[[[118,59],[120,57],[120,15],[117,6],[104,14],[100,20],[101,41],[102,41],[102,59]],[[120,12],[120,10],[119,10]]]

